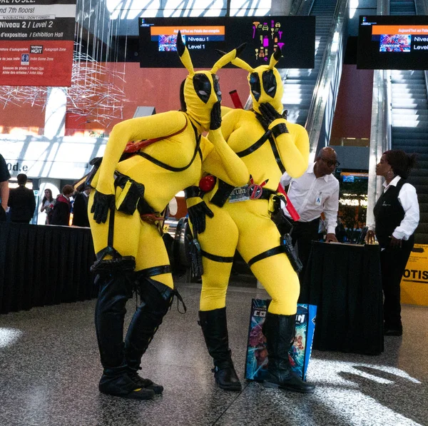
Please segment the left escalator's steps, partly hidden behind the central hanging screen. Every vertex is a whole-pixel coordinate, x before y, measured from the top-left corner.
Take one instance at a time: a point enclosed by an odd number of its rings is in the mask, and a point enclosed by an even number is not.
[[[312,96],[325,54],[337,0],[315,0],[310,16],[316,16],[315,68],[288,69],[284,78],[284,109],[288,120],[305,126]]]

